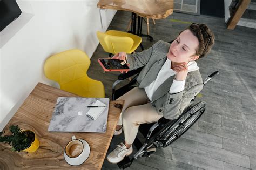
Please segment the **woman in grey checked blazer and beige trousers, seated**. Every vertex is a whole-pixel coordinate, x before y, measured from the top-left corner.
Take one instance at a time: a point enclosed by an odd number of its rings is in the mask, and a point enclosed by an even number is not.
[[[177,119],[201,89],[203,80],[196,60],[210,52],[213,32],[205,24],[191,24],[171,44],[159,40],[142,52],[119,52],[113,58],[124,60],[130,70],[143,67],[134,87],[119,100],[125,100],[114,135],[124,130],[124,143],[108,156],[118,163],[132,153],[140,124],[154,123],[164,116]],[[118,100],[117,99],[117,100]]]

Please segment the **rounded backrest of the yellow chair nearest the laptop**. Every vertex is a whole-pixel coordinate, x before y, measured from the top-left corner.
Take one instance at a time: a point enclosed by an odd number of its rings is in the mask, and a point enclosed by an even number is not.
[[[49,57],[44,64],[45,76],[60,86],[87,76],[90,59],[81,50],[72,49]]]

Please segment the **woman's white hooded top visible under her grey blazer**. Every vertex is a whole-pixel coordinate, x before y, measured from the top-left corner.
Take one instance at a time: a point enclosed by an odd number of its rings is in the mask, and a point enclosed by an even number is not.
[[[197,66],[197,63],[195,61],[188,62],[188,72],[198,70],[199,67]],[[157,74],[156,80],[154,80],[151,84],[145,87],[145,91],[147,94],[147,97],[152,100],[153,93],[157,90],[157,88],[164,83],[164,81],[175,75],[176,71],[173,71],[171,69],[171,61],[169,59],[166,60],[164,65],[161,67],[161,70]],[[173,83],[170,87],[169,93],[178,93],[184,90],[186,80],[183,81],[177,81],[173,80]]]

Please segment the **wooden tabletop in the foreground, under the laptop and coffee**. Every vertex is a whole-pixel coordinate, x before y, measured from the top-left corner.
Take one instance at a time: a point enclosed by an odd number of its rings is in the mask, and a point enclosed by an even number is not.
[[[77,96],[42,83],[37,84],[4,130],[9,131],[10,125],[33,130],[40,141],[40,146],[34,153],[15,153],[10,150],[11,146],[0,143],[0,169],[100,169],[102,167],[121,111],[120,108],[114,107],[114,104],[123,105],[124,101],[110,101],[106,133],[48,132],[58,97]],[[91,147],[89,158],[80,166],[70,166],[64,160],[64,148],[72,135],[77,139],[85,139]]]

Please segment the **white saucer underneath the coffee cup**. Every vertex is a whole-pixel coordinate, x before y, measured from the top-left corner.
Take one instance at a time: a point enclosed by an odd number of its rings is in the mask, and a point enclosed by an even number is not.
[[[69,165],[81,165],[83,164],[90,155],[90,145],[84,139],[78,139],[83,142],[84,151],[79,155],[79,158],[70,158],[66,155],[66,151],[64,151],[64,159]]]

